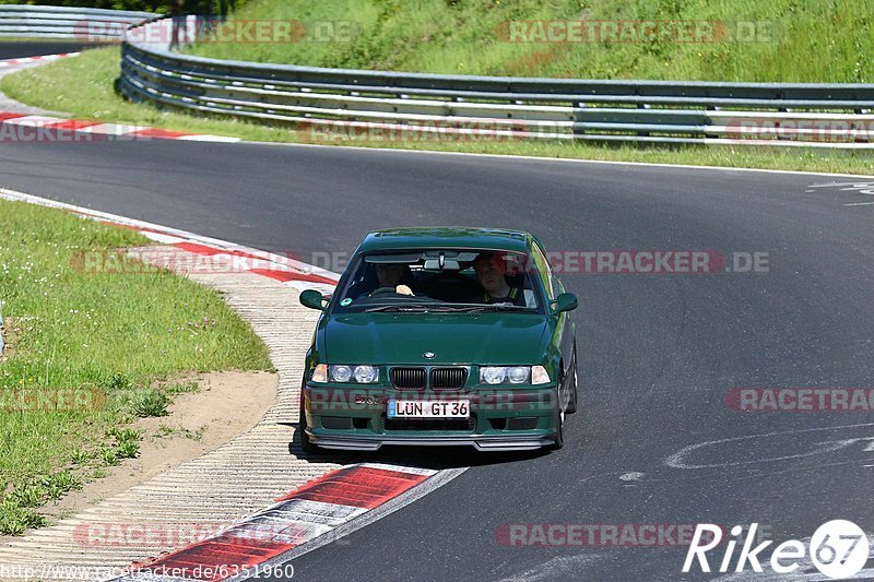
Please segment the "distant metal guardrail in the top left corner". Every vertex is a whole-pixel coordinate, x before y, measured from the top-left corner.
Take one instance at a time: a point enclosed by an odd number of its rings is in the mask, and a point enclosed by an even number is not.
[[[155,17],[149,12],[95,8],[0,4],[0,38],[120,39],[131,24]]]

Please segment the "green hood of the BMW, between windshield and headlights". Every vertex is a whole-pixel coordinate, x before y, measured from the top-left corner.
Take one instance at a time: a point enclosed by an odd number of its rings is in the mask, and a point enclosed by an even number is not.
[[[534,313],[344,313],[323,333],[335,364],[522,365],[542,361],[547,325]]]

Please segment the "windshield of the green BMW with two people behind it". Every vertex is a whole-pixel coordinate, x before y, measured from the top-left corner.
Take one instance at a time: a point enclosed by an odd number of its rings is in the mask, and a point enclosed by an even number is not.
[[[335,311],[541,312],[533,261],[508,251],[422,249],[358,256]]]

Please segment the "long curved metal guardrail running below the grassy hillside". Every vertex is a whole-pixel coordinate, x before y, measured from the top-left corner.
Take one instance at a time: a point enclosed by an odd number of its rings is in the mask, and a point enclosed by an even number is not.
[[[123,95],[309,128],[312,141],[440,136],[874,149],[871,84],[488,78],[222,61],[168,50],[172,25],[156,20],[128,31]]]

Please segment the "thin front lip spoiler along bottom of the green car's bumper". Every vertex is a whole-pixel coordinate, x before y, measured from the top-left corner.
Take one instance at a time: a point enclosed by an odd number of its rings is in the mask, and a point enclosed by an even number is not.
[[[473,447],[477,451],[533,451],[550,447],[555,442],[551,436],[451,436],[451,437],[392,437],[392,436],[361,436],[361,437],[333,437],[314,435],[307,430],[310,442],[322,449],[342,451],[378,451],[383,444],[405,447]]]

